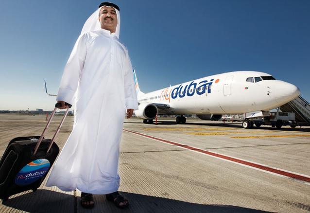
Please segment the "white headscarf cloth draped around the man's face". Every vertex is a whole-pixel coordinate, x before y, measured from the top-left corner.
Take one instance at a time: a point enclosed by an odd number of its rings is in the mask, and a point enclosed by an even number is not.
[[[103,5],[102,7],[111,7],[111,6]],[[83,29],[81,31],[81,35],[83,35],[87,32],[97,31],[97,30],[101,29],[101,25],[100,25],[98,16],[99,16],[99,11],[102,7],[98,8],[89,18],[87,18],[87,20],[83,26]],[[118,11],[116,8],[114,8],[114,9],[116,11],[116,16],[117,16],[117,26],[116,26],[115,35],[118,38],[120,38],[120,25],[121,25],[120,11]]]

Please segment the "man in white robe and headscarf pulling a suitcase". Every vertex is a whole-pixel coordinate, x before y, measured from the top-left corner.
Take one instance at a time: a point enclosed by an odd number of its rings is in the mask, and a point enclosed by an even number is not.
[[[82,191],[81,204],[92,208],[92,194],[106,195],[120,208],[118,162],[123,120],[138,101],[126,47],[119,41],[120,8],[103,2],[86,21],[70,54],[57,101],[75,103],[73,130],[47,186]],[[99,18],[98,18],[99,15]],[[75,101],[74,101],[75,97]]]

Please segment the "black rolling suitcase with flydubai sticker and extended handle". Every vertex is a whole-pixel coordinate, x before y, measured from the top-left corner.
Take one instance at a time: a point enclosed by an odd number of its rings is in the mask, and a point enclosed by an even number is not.
[[[67,104],[69,107],[71,105]],[[56,112],[57,103],[41,136],[18,137],[9,142],[0,161],[0,198],[5,201],[11,195],[27,190],[36,191],[50,171],[59,147],[54,142],[69,108],[64,114],[52,139],[44,139]]]

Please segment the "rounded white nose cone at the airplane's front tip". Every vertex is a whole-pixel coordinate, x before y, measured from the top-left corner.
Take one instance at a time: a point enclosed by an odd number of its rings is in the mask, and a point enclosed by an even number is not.
[[[293,84],[279,82],[275,87],[276,102],[286,104],[300,95],[300,90]]]

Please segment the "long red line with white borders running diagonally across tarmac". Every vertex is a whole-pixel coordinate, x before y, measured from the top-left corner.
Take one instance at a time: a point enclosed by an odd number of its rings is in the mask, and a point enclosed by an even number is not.
[[[276,167],[260,164],[260,163],[257,163],[257,162],[252,162],[252,161],[249,161],[249,160],[242,160],[242,159],[239,159],[239,158],[235,158],[235,157],[231,157],[231,156],[227,156],[227,155],[223,155],[223,154],[218,154],[218,153],[215,153],[215,152],[210,152],[210,151],[202,150],[202,149],[195,148],[195,147],[192,147],[192,146],[188,146],[188,145],[185,145],[185,144],[182,144],[182,143],[168,141],[168,140],[165,140],[165,139],[157,138],[157,137],[154,137],[154,136],[151,136],[151,135],[146,135],[146,134],[143,134],[143,133],[139,133],[139,132],[135,132],[135,131],[127,130],[127,129],[123,129],[123,130],[126,131],[126,132],[129,132],[129,133],[133,133],[133,134],[145,137],[145,138],[149,138],[149,139],[155,140],[155,141],[172,144],[172,145],[181,147],[183,149],[188,149],[190,151],[194,151],[194,152],[198,152],[198,153],[201,153],[201,154],[205,154],[205,155],[208,155],[210,157],[214,157],[214,158],[217,158],[217,159],[220,159],[220,160],[225,160],[225,161],[228,161],[228,162],[236,163],[236,164],[248,167],[248,168],[256,169],[256,170],[263,171],[263,172],[266,172],[266,173],[269,173],[269,174],[273,174],[273,175],[276,175],[276,176],[280,176],[280,177],[290,178],[290,179],[299,181],[301,183],[305,183],[307,185],[310,185],[310,176],[307,176],[307,175],[304,175],[304,174],[300,174],[300,173],[296,173],[296,172],[292,172],[292,171],[287,171],[287,170],[284,170],[284,169],[279,169],[279,168],[276,168]]]

